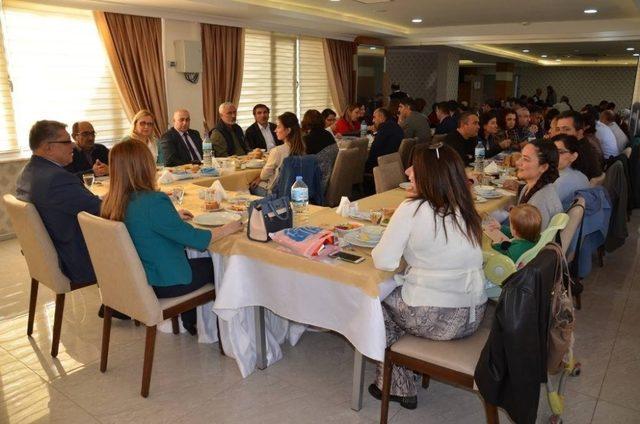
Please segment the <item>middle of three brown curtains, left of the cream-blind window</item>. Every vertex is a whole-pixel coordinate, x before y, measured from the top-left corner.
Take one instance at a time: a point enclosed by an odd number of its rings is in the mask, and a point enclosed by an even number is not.
[[[209,127],[218,121],[218,106],[238,104],[244,65],[244,29],[200,24],[202,32],[202,102]]]

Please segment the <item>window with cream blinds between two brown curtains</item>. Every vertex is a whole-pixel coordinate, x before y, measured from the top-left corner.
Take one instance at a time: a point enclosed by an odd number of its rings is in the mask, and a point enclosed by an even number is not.
[[[252,110],[258,103],[269,106],[272,121],[287,111],[301,119],[308,109],[332,107],[322,40],[246,30],[241,127],[254,122]]]

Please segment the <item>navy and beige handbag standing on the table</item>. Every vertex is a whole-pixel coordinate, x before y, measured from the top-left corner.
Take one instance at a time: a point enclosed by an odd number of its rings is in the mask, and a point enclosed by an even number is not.
[[[250,240],[268,242],[269,233],[293,226],[293,211],[288,197],[274,195],[254,200],[249,205],[247,237]]]

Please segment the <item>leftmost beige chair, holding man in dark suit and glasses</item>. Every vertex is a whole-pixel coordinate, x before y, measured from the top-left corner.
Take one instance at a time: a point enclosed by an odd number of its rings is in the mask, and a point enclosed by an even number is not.
[[[51,356],[56,357],[58,356],[58,345],[60,344],[65,294],[72,290],[95,284],[95,281],[88,281],[82,284],[71,283],[60,270],[58,253],[36,207],[31,203],[16,199],[11,194],[5,194],[3,199],[31,275],[27,335],[31,336],[33,333],[38,286],[43,284],[56,294],[56,310],[53,318],[51,340]]]

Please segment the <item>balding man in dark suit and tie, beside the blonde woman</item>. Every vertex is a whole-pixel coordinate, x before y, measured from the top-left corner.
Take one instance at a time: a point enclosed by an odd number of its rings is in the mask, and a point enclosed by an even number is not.
[[[202,138],[198,131],[189,128],[190,125],[188,110],[178,109],[173,113],[173,127],[159,140],[165,166],[202,163]]]

